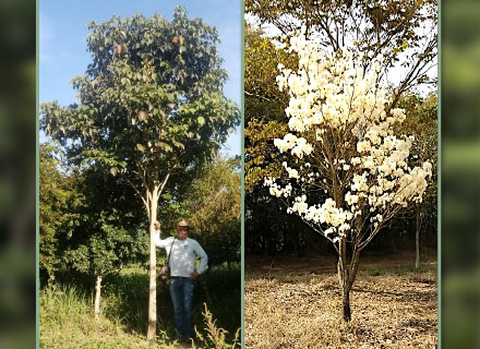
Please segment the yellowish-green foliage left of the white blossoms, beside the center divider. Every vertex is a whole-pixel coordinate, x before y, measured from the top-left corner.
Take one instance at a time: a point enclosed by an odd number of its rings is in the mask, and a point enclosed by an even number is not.
[[[267,37],[245,24],[244,49],[244,106],[245,106],[245,191],[253,188],[265,176],[278,174],[276,168],[281,156],[274,147],[273,139],[285,134],[287,118],[285,108],[288,95],[278,92],[277,63],[286,61],[297,67],[295,58],[281,48],[276,48]]]

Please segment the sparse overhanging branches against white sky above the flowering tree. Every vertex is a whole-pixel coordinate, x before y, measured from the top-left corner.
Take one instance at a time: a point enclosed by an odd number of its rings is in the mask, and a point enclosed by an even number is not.
[[[289,38],[301,27],[321,47],[348,48],[362,60],[364,71],[383,56],[380,77],[389,68],[405,74],[395,86],[392,108],[399,96],[424,83],[436,83],[429,70],[436,65],[436,0],[247,0],[245,11]]]

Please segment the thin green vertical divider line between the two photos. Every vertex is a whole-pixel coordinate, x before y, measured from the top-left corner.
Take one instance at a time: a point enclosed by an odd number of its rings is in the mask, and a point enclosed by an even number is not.
[[[245,49],[245,45],[244,45],[244,29],[245,29],[245,25],[244,25],[244,16],[245,16],[245,7],[244,7],[244,1],[241,0],[241,9],[240,9],[240,13],[241,13],[241,40],[240,40],[240,55],[241,55],[241,59],[240,59],[240,72],[241,72],[241,84],[240,84],[240,98],[241,98],[241,113],[242,113],[242,120],[241,120],[241,133],[240,133],[240,151],[241,151],[241,348],[243,349],[245,346],[245,326],[244,326],[244,309],[245,309],[245,203],[244,203],[244,197],[245,197],[245,193],[244,193],[244,171],[245,171],[245,137],[244,137],[244,121],[245,121],[245,108],[244,108],[244,75],[245,75],[245,64],[244,64],[244,49]]]

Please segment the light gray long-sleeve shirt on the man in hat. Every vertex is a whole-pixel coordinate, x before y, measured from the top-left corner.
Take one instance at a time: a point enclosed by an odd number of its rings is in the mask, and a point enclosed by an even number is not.
[[[156,232],[155,244],[158,248],[164,248],[167,252],[167,257],[170,254],[170,275],[190,277],[195,270],[195,260],[200,258],[200,266],[196,273],[202,274],[208,262],[208,257],[205,251],[202,249],[196,240],[187,238],[185,240],[178,240],[173,237],[167,238],[165,240],[160,239],[159,232]],[[171,244],[173,242],[173,245]]]

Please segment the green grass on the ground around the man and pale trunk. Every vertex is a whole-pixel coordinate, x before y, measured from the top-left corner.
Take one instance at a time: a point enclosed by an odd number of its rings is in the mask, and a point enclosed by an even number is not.
[[[76,279],[77,280],[77,279]],[[225,348],[231,347],[240,327],[240,265],[211,268],[197,279],[194,292],[194,323],[202,336],[208,328],[204,303],[227,330]],[[93,314],[89,284],[57,284],[40,291],[40,348],[170,348],[173,346],[173,314],[168,286],[157,282],[157,339],[145,339],[147,327],[148,275],[137,267],[124,268],[105,278],[101,316]]]

